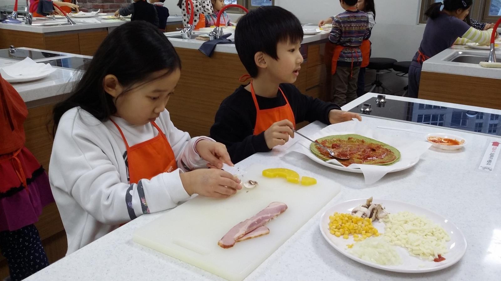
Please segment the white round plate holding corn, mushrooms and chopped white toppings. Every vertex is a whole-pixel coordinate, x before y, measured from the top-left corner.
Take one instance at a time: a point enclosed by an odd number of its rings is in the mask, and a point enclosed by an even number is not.
[[[440,262],[423,260],[419,257],[410,255],[405,248],[399,246],[396,246],[397,252],[400,254],[400,258],[402,261],[402,264],[399,265],[381,265],[352,255],[349,251],[347,251],[346,245],[355,242],[353,240],[353,237],[350,236],[349,239],[344,239],[343,237],[336,237],[332,235],[329,231],[329,216],[333,215],[334,212],[351,213],[351,210],[354,207],[365,204],[366,200],[367,199],[355,199],[339,203],[326,210],[324,214],[322,214],[322,217],[320,218],[320,232],[322,232],[324,238],[327,240],[329,244],[331,244],[331,246],[333,246],[336,250],[346,255],[347,257],[356,260],[360,263],[363,263],[365,265],[369,265],[383,270],[406,272],[406,273],[422,273],[422,272],[436,271],[449,267],[452,264],[459,261],[459,259],[461,259],[461,257],[464,255],[464,252],[466,251],[466,238],[464,237],[464,234],[461,232],[461,230],[459,230],[459,228],[457,228],[457,226],[450,220],[420,206],[400,201],[384,200],[384,199],[373,199],[373,202],[382,204],[386,208],[386,210],[390,213],[397,213],[399,211],[409,211],[417,215],[424,215],[428,219],[439,224],[443,229],[445,229],[445,231],[450,236],[450,241],[447,242],[447,247],[449,248],[449,252],[443,255],[443,257],[445,257],[445,260]],[[383,222],[375,221],[373,222],[373,225],[378,229],[379,232],[381,233],[384,232]]]

